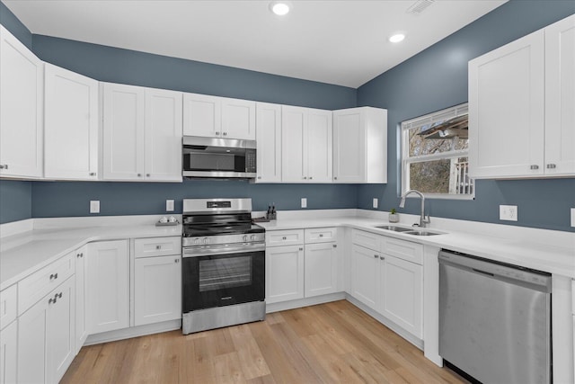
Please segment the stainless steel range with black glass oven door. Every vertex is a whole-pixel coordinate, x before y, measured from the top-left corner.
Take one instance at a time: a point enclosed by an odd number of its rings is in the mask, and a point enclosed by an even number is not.
[[[251,199],[184,199],[182,333],[263,320],[265,229]]]

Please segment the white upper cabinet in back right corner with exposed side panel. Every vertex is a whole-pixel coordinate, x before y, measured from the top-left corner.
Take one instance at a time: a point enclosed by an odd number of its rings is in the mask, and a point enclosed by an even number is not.
[[[333,112],[333,181],[387,183],[387,111]]]

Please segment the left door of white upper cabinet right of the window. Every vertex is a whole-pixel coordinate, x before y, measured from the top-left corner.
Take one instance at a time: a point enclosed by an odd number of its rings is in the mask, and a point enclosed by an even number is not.
[[[472,177],[544,173],[544,32],[469,62]]]

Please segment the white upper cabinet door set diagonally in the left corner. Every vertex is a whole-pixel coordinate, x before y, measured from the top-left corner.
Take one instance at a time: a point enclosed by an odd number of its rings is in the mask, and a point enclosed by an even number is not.
[[[98,82],[46,63],[44,176],[98,178]]]

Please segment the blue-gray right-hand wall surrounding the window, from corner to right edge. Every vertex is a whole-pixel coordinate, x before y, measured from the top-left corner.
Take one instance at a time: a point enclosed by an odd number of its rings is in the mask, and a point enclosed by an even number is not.
[[[358,88],[358,105],[388,110],[388,183],[359,185],[358,208],[399,205],[401,155],[399,124],[420,115],[467,102],[467,62],[483,53],[575,13],[574,1],[512,0]],[[397,160],[397,161],[394,161]],[[499,220],[499,205],[517,205],[517,223]],[[430,200],[431,216],[575,231],[575,179],[476,182],[474,201]],[[419,213],[408,201],[398,212]]]

